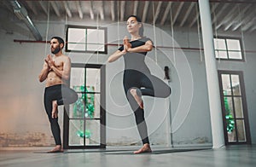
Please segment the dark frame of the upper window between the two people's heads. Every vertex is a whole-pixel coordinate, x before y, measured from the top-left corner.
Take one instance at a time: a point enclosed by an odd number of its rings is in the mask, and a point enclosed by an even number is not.
[[[94,51],[94,50],[73,50],[73,49],[67,49],[67,44],[68,44],[68,29],[69,28],[78,28],[78,29],[84,29],[84,30],[103,30],[104,31],[104,51]],[[98,54],[108,54],[108,28],[107,27],[96,27],[96,26],[76,26],[76,25],[67,25],[66,28],[66,43],[65,43],[65,51],[66,52],[78,52],[78,53],[98,53]],[[87,34],[85,34],[87,35]],[[86,41],[87,42],[87,41]],[[87,44],[87,43],[85,43]]]

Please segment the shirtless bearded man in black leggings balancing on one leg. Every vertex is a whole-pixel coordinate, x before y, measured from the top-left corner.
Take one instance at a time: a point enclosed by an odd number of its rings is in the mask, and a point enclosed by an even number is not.
[[[55,147],[48,153],[61,153],[61,130],[58,124],[58,106],[72,104],[78,95],[68,87],[71,71],[71,60],[62,54],[64,41],[61,37],[52,37],[50,49],[53,56],[47,55],[39,74],[39,81],[46,80],[44,89],[44,107],[49,118],[50,128],[55,139]]]

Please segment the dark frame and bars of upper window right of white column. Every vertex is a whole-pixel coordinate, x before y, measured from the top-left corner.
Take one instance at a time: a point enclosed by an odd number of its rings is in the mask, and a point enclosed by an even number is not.
[[[215,47],[215,44],[214,44],[214,39],[224,39],[224,42],[225,42],[225,46],[226,46],[226,49],[216,49]],[[238,40],[239,41],[239,44],[240,44],[240,52],[241,52],[241,59],[234,59],[234,58],[230,58],[229,57],[229,51],[235,51],[235,50],[230,50],[228,49],[228,45],[227,45],[227,40],[232,40],[232,39],[235,39],[235,40]],[[241,40],[241,37],[224,37],[224,36],[214,36],[213,37],[213,44],[214,44],[214,55],[215,55],[215,59],[216,60],[229,60],[229,61],[245,61],[245,58],[244,58],[244,49],[243,49],[243,44],[242,44],[242,40]],[[216,51],[226,51],[226,55],[227,55],[227,58],[220,58],[218,57],[218,55],[215,54]],[[238,51],[237,51],[238,52]]]

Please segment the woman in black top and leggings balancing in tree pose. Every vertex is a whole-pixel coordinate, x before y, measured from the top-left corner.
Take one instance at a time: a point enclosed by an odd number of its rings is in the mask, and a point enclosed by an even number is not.
[[[127,31],[131,34],[131,39],[125,37],[123,46],[109,56],[108,62],[124,57],[125,95],[135,114],[137,129],[143,141],[143,147],[134,153],[150,153],[152,150],[148,140],[142,95],[166,98],[171,95],[171,89],[160,78],[153,76],[145,64],[145,56],[153,49],[153,43],[148,37],[143,37],[143,24],[140,18],[136,15],[129,16]]]

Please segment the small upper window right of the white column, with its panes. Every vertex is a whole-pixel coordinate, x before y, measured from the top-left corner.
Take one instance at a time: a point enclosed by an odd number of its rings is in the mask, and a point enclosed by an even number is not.
[[[214,37],[215,57],[221,60],[244,60],[239,38]]]

